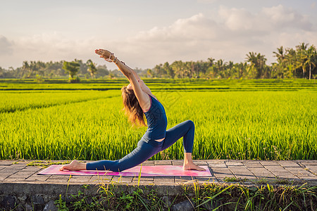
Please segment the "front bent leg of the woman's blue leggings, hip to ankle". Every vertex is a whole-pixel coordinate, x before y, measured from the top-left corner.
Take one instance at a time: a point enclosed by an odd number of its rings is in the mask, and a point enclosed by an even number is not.
[[[161,151],[172,146],[173,143],[183,137],[182,142],[184,144],[184,152],[192,153],[192,146],[194,145],[194,130],[194,122],[192,122],[191,120],[187,120],[168,129],[166,131],[166,136]]]

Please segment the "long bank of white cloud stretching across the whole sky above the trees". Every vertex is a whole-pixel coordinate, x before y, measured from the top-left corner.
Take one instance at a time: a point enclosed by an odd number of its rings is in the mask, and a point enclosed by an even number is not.
[[[106,63],[94,55],[95,48],[113,51],[132,68],[153,68],[166,61],[210,57],[241,62],[249,51],[262,53],[268,62],[273,62],[272,51],[281,45],[294,47],[301,41],[316,45],[317,32],[313,28],[305,15],[281,5],[262,8],[257,13],[220,6],[216,18],[198,13],[120,40],[77,39],[54,32],[20,37],[13,45],[13,41],[0,37],[0,47],[8,52],[11,49],[14,55],[1,56],[0,65],[9,66],[18,61],[16,66],[20,66],[23,60],[74,58],[84,61],[92,58],[99,64]],[[116,68],[114,65],[109,67]]]

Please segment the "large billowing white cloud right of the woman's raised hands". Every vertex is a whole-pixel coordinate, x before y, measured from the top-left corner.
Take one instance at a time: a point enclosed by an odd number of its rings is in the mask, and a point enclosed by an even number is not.
[[[314,35],[317,33],[311,32],[311,23],[304,15],[283,6],[263,8],[259,13],[220,6],[216,20],[199,13],[167,27],[139,32],[114,47],[131,58],[133,65],[144,63],[148,67],[165,61],[209,57],[240,62],[249,51],[262,53],[268,62],[273,62],[272,51],[280,43],[285,47],[294,47],[300,41],[316,44]]]

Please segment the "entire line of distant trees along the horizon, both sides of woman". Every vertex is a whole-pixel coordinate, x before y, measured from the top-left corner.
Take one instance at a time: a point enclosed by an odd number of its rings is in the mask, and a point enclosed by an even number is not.
[[[205,79],[268,79],[268,78],[316,78],[316,46],[300,43],[292,48],[280,46],[273,52],[275,63],[266,64],[266,57],[261,53],[247,53],[244,62],[225,62],[223,59],[185,61],[176,60],[156,65],[151,69],[136,71],[141,77],[158,78],[205,78]],[[61,78],[69,77],[71,82],[80,78],[113,78],[123,77],[118,70],[108,70],[106,65],[96,65],[92,60],[83,62],[75,59],[72,62],[23,61],[20,68],[0,67],[0,78]]]

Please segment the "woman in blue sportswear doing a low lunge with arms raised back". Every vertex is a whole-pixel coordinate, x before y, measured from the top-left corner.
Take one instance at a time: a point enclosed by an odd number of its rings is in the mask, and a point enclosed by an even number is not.
[[[146,125],[144,123],[145,115],[148,124],[147,132],[137,143],[137,148],[120,160],[99,160],[87,163],[73,160],[70,164],[63,165],[60,170],[111,170],[120,172],[141,164],[183,137],[185,153],[183,170],[204,171],[204,168],[195,165],[192,161],[194,123],[187,120],[166,131],[165,110],[137,73],[118,60],[110,51],[98,49],[95,53],[108,62],[116,63],[123,75],[129,79],[128,87],[121,89],[126,114],[131,122]]]

